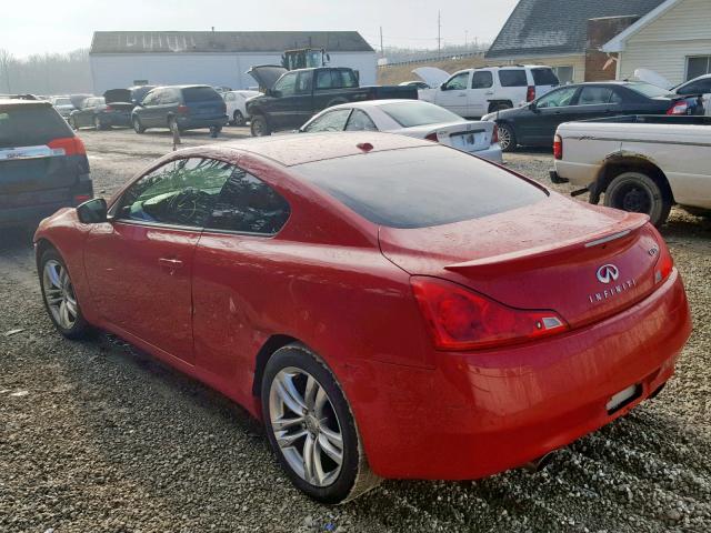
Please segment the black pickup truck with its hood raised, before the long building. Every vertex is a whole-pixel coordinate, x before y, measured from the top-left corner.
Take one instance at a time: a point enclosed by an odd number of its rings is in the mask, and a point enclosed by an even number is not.
[[[414,87],[360,87],[358,76],[344,67],[287,70],[266,64],[249,71],[263,94],[247,102],[253,137],[301,127],[319,111],[346,102],[404,98],[417,100]]]

